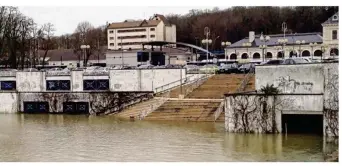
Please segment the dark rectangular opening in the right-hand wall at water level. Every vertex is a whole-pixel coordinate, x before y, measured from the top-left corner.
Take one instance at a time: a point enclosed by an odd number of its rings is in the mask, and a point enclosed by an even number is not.
[[[283,133],[323,135],[323,115],[283,114],[281,122]]]

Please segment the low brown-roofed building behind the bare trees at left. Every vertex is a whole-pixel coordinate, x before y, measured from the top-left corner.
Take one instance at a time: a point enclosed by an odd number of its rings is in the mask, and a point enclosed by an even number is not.
[[[43,57],[44,51],[39,51],[40,57]],[[41,58],[42,60],[42,58]],[[73,49],[56,49],[49,50],[46,55],[45,62],[49,66],[67,66],[67,67],[77,67],[78,64],[83,66],[84,56],[82,52],[75,53]],[[93,64],[105,64],[106,56],[104,53],[99,53],[95,51],[88,58],[87,66]]]

